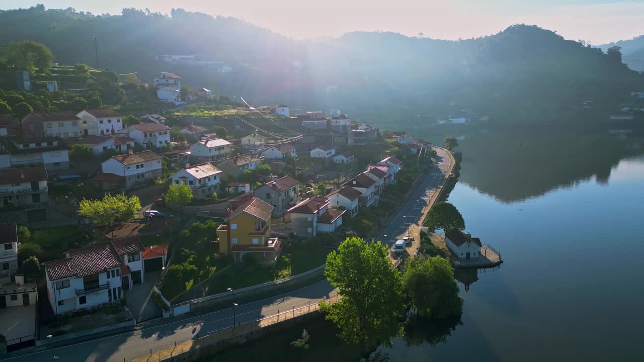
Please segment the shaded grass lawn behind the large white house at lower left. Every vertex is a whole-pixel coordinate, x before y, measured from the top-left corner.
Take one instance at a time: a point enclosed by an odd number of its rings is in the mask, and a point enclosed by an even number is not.
[[[59,226],[32,230],[30,242],[43,247],[44,254],[41,262],[48,262],[64,258],[62,252],[81,247],[81,244],[88,240],[87,234],[78,227]]]

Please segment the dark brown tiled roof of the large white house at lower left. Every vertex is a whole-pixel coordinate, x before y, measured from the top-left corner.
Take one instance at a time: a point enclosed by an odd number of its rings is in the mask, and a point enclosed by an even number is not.
[[[83,276],[99,274],[123,265],[114,247],[109,242],[96,243],[90,247],[70,250],[67,253],[70,258],[44,263],[50,280],[59,280],[72,276],[82,278]]]

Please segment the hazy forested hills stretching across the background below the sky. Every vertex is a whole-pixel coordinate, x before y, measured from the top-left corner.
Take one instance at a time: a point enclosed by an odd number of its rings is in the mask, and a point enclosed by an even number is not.
[[[468,109],[511,122],[577,117],[581,102],[614,108],[644,76],[620,53],[605,54],[538,26],[515,25],[495,35],[442,41],[397,33],[347,33],[327,41],[294,41],[240,19],[173,10],[169,15],[126,9],[121,15],[46,11],[0,12],[0,44],[33,40],[63,64],[178,73],[256,104],[340,108],[366,122],[424,122]],[[200,54],[233,68],[167,64],[158,55]],[[297,66],[295,64],[298,64]]]

